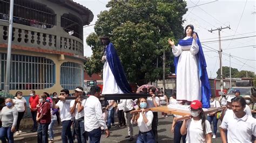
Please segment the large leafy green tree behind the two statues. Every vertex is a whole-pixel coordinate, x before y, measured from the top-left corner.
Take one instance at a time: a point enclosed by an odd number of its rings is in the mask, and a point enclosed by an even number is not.
[[[169,1],[110,1],[108,11],[100,12],[95,33],[87,37],[93,55],[85,63],[89,75],[102,71],[100,62],[103,46],[99,37],[108,35],[117,50],[130,82],[161,79],[163,50],[166,59],[173,59],[167,39],[183,38],[182,16],[186,2]],[[158,68],[157,68],[158,59]],[[174,72],[173,60],[166,60],[166,73]],[[171,68],[170,68],[171,67]]]

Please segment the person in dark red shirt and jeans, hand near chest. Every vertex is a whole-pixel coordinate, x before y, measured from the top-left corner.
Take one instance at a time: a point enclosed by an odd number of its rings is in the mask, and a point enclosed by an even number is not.
[[[48,127],[51,123],[51,105],[46,101],[46,94],[39,96],[39,108],[36,120],[38,121],[37,142],[48,142]]]

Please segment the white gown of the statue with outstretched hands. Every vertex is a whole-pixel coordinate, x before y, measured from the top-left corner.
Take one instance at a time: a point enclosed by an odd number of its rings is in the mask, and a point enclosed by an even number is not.
[[[184,40],[191,38],[185,37]],[[177,100],[201,101],[201,82],[199,79],[198,57],[199,46],[193,39],[192,45],[173,46],[172,53],[179,56],[177,65]]]

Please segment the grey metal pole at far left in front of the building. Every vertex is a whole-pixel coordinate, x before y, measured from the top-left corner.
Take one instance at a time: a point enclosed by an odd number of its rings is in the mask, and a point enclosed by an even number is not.
[[[4,92],[9,93],[10,90],[10,70],[11,70],[11,40],[12,40],[12,18],[14,15],[14,0],[10,0],[10,15],[9,15],[9,34],[8,34],[8,49],[6,58],[6,70],[4,81]]]

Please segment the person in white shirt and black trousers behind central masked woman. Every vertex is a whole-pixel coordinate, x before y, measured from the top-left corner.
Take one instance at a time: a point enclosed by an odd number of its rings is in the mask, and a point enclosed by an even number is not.
[[[155,95],[156,88],[151,87],[149,88],[149,94],[152,95],[152,97],[147,97],[147,108],[154,108],[160,105],[160,99],[159,97],[156,97]],[[157,133],[157,124],[158,124],[158,112],[153,112],[153,121],[152,121],[152,131],[154,133],[154,137],[156,138],[156,142],[158,139],[158,133]]]

